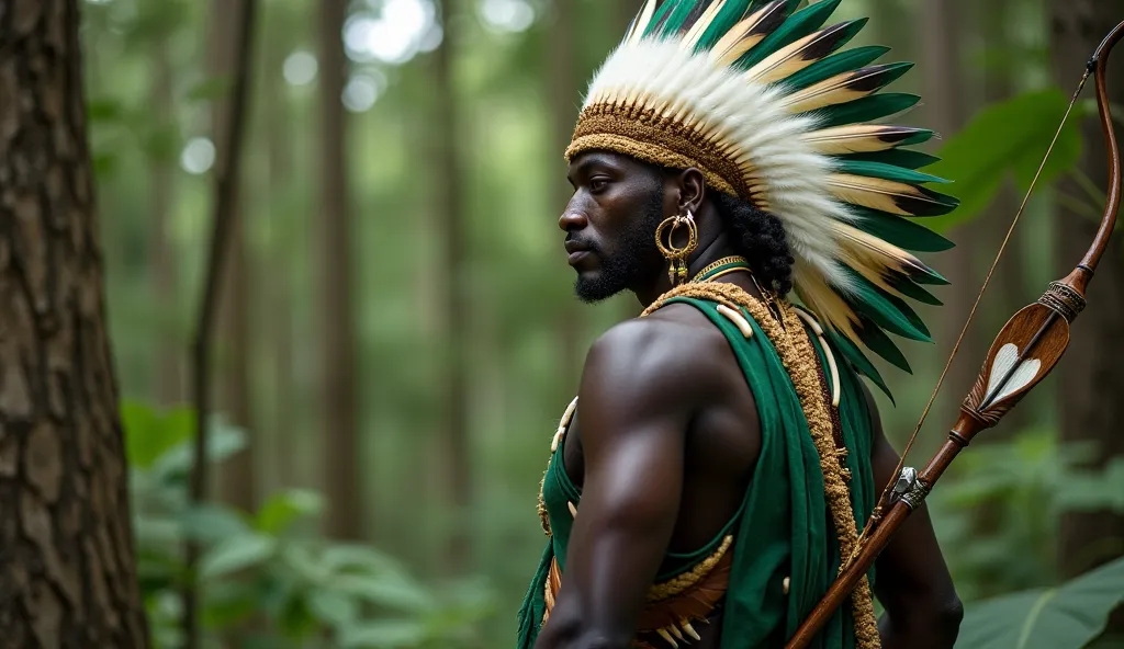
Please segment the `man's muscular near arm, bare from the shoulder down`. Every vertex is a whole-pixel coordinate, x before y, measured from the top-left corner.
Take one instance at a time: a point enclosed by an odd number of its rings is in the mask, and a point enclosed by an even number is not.
[[[579,391],[584,485],[538,649],[624,649],[635,634],[674,529],[691,417],[694,387],[674,367],[682,347],[659,333],[668,326],[626,322],[587,358]]]

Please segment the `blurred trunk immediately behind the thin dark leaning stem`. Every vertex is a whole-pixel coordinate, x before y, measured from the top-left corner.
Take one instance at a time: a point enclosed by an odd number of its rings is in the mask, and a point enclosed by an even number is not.
[[[232,11],[241,11],[232,8],[229,0],[212,0],[210,8],[210,73],[214,77],[230,81],[237,65],[237,38],[238,21],[232,17]],[[229,85],[229,84],[227,84]],[[225,99],[230,93],[229,88],[224,94],[224,99],[218,99],[211,104],[211,126],[215,148],[224,150],[230,146],[229,132],[226,124],[229,109],[229,100]],[[219,154],[221,156],[221,154]],[[254,511],[255,499],[255,476],[256,444],[254,440],[254,422],[251,409],[250,394],[250,268],[246,258],[246,245],[243,232],[245,231],[245,214],[241,213],[241,188],[234,188],[234,203],[238,205],[235,211],[239,212],[230,222],[229,243],[226,259],[225,273],[223,276],[224,291],[219,307],[219,322],[221,335],[219,336],[219,376],[217,382],[220,393],[218,395],[219,408],[229,419],[230,423],[243,429],[247,436],[246,448],[226,460],[220,474],[223,500],[243,511]],[[217,191],[217,188],[216,190]]]

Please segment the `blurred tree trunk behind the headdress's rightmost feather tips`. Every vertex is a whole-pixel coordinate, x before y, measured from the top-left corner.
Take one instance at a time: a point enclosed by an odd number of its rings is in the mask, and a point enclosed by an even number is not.
[[[928,0],[922,4],[921,45],[923,51],[924,79],[922,93],[927,104],[926,121],[941,136],[951,137],[959,130],[969,115],[969,95],[960,61],[963,48],[962,25],[959,22],[959,0]],[[941,308],[941,322],[935,328],[939,349],[939,366],[952,351],[953,344],[960,335],[975,299],[972,259],[975,246],[967,232],[951,235],[957,247],[942,253],[937,267],[952,283],[948,291],[942,292],[944,307]],[[971,333],[971,332],[969,332]],[[942,387],[942,399],[935,412],[954,413],[960,401],[976,382],[977,365],[968,362],[970,358],[982,357],[982,351],[973,354],[973,337],[964,341]]]

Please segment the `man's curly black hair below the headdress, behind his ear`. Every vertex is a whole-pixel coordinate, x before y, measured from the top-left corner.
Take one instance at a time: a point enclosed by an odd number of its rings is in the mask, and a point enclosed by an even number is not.
[[[713,192],[723,222],[733,235],[734,249],[750,263],[762,287],[778,295],[792,290],[792,258],[780,219],[723,192]]]

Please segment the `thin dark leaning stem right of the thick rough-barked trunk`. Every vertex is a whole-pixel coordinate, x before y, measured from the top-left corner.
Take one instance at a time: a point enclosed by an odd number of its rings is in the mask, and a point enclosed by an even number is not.
[[[218,308],[223,262],[235,214],[235,189],[238,186],[246,104],[250,94],[250,64],[253,51],[254,21],[257,16],[257,0],[243,0],[238,30],[237,58],[229,113],[226,122],[225,150],[219,150],[219,164],[215,173],[215,194],[211,203],[212,225],[207,275],[205,277],[202,304],[199,310],[192,345],[192,393],[196,406],[196,444],[192,458],[191,493],[192,506],[198,506],[207,495],[207,431],[210,412],[210,344]],[[217,138],[219,139],[219,138]],[[187,542],[187,578],[183,586],[183,639],[184,649],[199,648],[199,584],[197,564],[199,546],[189,538]]]

